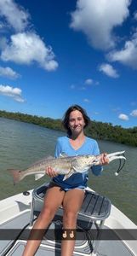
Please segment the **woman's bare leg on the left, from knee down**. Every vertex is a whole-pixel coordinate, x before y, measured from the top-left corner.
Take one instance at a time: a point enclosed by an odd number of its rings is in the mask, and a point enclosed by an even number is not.
[[[22,256],[35,255],[37,248],[43,239],[44,231],[54,218],[54,214],[58,207],[60,207],[64,195],[65,192],[58,186],[52,186],[47,190],[42,212],[40,212],[37,221],[31,230],[29,240],[26,243],[26,247]]]

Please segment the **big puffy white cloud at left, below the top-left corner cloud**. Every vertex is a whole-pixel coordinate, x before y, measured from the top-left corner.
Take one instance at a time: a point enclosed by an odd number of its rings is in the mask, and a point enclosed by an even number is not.
[[[43,40],[33,32],[22,32],[11,36],[10,44],[3,49],[3,61],[14,61],[18,64],[31,64],[34,61],[45,70],[51,71],[58,67],[54,61],[54,52]]]

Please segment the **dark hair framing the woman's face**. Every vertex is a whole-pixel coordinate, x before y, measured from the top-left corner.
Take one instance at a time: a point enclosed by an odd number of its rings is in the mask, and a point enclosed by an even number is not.
[[[79,105],[72,105],[70,108],[68,108],[66,110],[66,113],[65,113],[65,115],[62,119],[62,125],[66,129],[67,134],[69,136],[71,135],[71,129],[69,128],[69,118],[70,118],[71,111],[74,111],[74,110],[78,110],[79,112],[81,112],[83,114],[83,119],[84,119],[84,122],[85,122],[84,128],[87,127],[89,122],[90,122],[88,114],[86,113],[86,111],[82,107],[80,107]]]

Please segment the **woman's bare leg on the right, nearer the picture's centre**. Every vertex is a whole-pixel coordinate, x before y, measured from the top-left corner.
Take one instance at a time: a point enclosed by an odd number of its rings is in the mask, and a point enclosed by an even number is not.
[[[77,227],[77,212],[80,210],[83,204],[84,191],[82,189],[71,189],[66,192],[63,200],[63,228],[64,230],[70,230],[70,235],[74,235],[71,230],[75,230]],[[67,232],[68,235],[69,232]],[[75,235],[74,235],[75,236]],[[67,238],[66,238],[67,239]],[[75,246],[75,237],[71,240],[62,240],[61,243],[61,256],[71,256],[73,254]]]

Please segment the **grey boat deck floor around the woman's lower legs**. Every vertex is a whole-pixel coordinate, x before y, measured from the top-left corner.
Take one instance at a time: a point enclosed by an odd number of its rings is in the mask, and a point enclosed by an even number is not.
[[[37,218],[37,216],[35,216]],[[0,229],[3,230],[0,235],[0,255],[12,255],[21,256],[24,247],[26,245],[27,237],[30,232],[30,210],[22,210],[19,215],[14,216],[0,225]],[[77,221],[80,224],[80,234],[78,240],[76,241],[75,251],[73,255],[91,255],[93,251],[94,241],[92,236],[92,226],[90,230],[84,230],[84,221]],[[41,246],[38,248],[36,256],[59,256],[60,255],[60,232],[61,232],[62,222],[60,215],[55,215],[53,222],[49,226],[49,230],[46,230],[43,236],[43,241]],[[103,228],[108,229],[106,226]],[[16,229],[16,230],[15,230]],[[83,232],[81,232],[83,231]],[[5,235],[5,239],[4,239]],[[116,235],[115,235],[116,236]],[[102,256],[133,256],[124,244],[123,241],[100,241],[98,247],[98,255]]]

